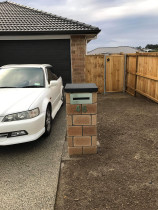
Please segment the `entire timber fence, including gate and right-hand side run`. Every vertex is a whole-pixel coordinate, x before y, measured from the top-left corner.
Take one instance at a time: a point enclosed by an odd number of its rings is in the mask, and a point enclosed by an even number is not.
[[[125,79],[125,73],[126,79]],[[158,102],[158,53],[87,55],[85,78],[99,93],[136,92]]]

